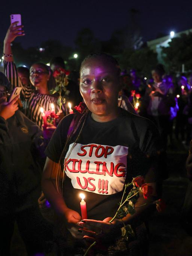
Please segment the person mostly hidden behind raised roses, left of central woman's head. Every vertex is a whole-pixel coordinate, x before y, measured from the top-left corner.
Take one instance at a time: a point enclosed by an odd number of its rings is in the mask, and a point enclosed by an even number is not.
[[[59,70],[60,68],[65,69],[65,63],[63,58],[52,58],[52,60],[50,61],[50,67],[53,72],[55,70]],[[70,75],[68,77],[67,90],[69,91],[69,94],[67,95],[67,100],[70,101],[73,106],[79,105],[79,103],[82,101],[82,97],[79,93],[79,86],[70,78]]]

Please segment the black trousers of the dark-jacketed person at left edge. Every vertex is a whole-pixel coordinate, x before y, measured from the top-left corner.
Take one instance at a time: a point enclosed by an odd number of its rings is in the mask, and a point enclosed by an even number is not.
[[[24,241],[28,256],[43,253],[48,241],[52,240],[52,227],[43,219],[38,206],[0,218],[0,255],[10,255],[10,242],[15,221]]]

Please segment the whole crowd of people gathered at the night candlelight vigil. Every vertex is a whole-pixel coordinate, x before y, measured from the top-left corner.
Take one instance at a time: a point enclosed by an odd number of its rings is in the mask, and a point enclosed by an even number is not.
[[[146,255],[139,237],[168,178],[167,149],[192,138],[192,76],[157,64],[150,78],[140,77],[105,53],[83,60],[79,83],[61,57],[16,67],[11,43],[24,36],[16,24],[4,39],[0,73],[0,255],[10,255],[15,222],[29,256],[84,255],[94,241],[88,255],[136,255],[134,241]],[[9,101],[14,88],[21,94]],[[126,184],[137,187],[133,177],[142,177],[134,213],[110,223]],[[132,243],[120,235],[127,225]]]

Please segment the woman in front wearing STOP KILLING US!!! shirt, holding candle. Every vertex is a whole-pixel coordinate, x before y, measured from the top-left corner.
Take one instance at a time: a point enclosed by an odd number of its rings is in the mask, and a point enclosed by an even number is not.
[[[151,202],[158,196],[161,183],[158,129],[150,120],[118,107],[120,90],[120,68],[115,58],[104,53],[88,55],[80,67],[80,93],[87,108],[79,119],[76,113],[65,116],[46,148],[42,190],[57,214],[59,230],[63,231],[58,235],[63,237],[63,244],[58,244],[65,255],[83,255],[84,243],[90,241],[108,245],[105,252],[100,247],[99,255],[129,255],[128,243],[121,237],[120,229],[127,224],[138,225],[144,216],[149,216]],[[103,153],[110,148],[110,156],[97,156],[98,147]],[[114,165],[122,168],[117,175],[102,174],[103,164],[106,168]],[[119,207],[125,184],[138,175],[144,176],[153,187],[153,195],[146,201],[140,193],[135,214],[109,224]],[[107,180],[104,193],[99,185],[102,179]],[[80,213],[82,192],[88,219],[82,219]],[[70,245],[69,238],[73,241]],[[96,248],[94,253],[97,254]]]

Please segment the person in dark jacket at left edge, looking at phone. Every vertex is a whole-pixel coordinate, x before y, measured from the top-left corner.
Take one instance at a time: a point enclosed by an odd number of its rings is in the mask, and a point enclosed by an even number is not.
[[[28,256],[43,253],[52,228],[40,211],[42,159],[47,142],[42,130],[18,110],[18,97],[7,103],[10,83],[0,72],[0,255],[10,255],[16,221]]]

